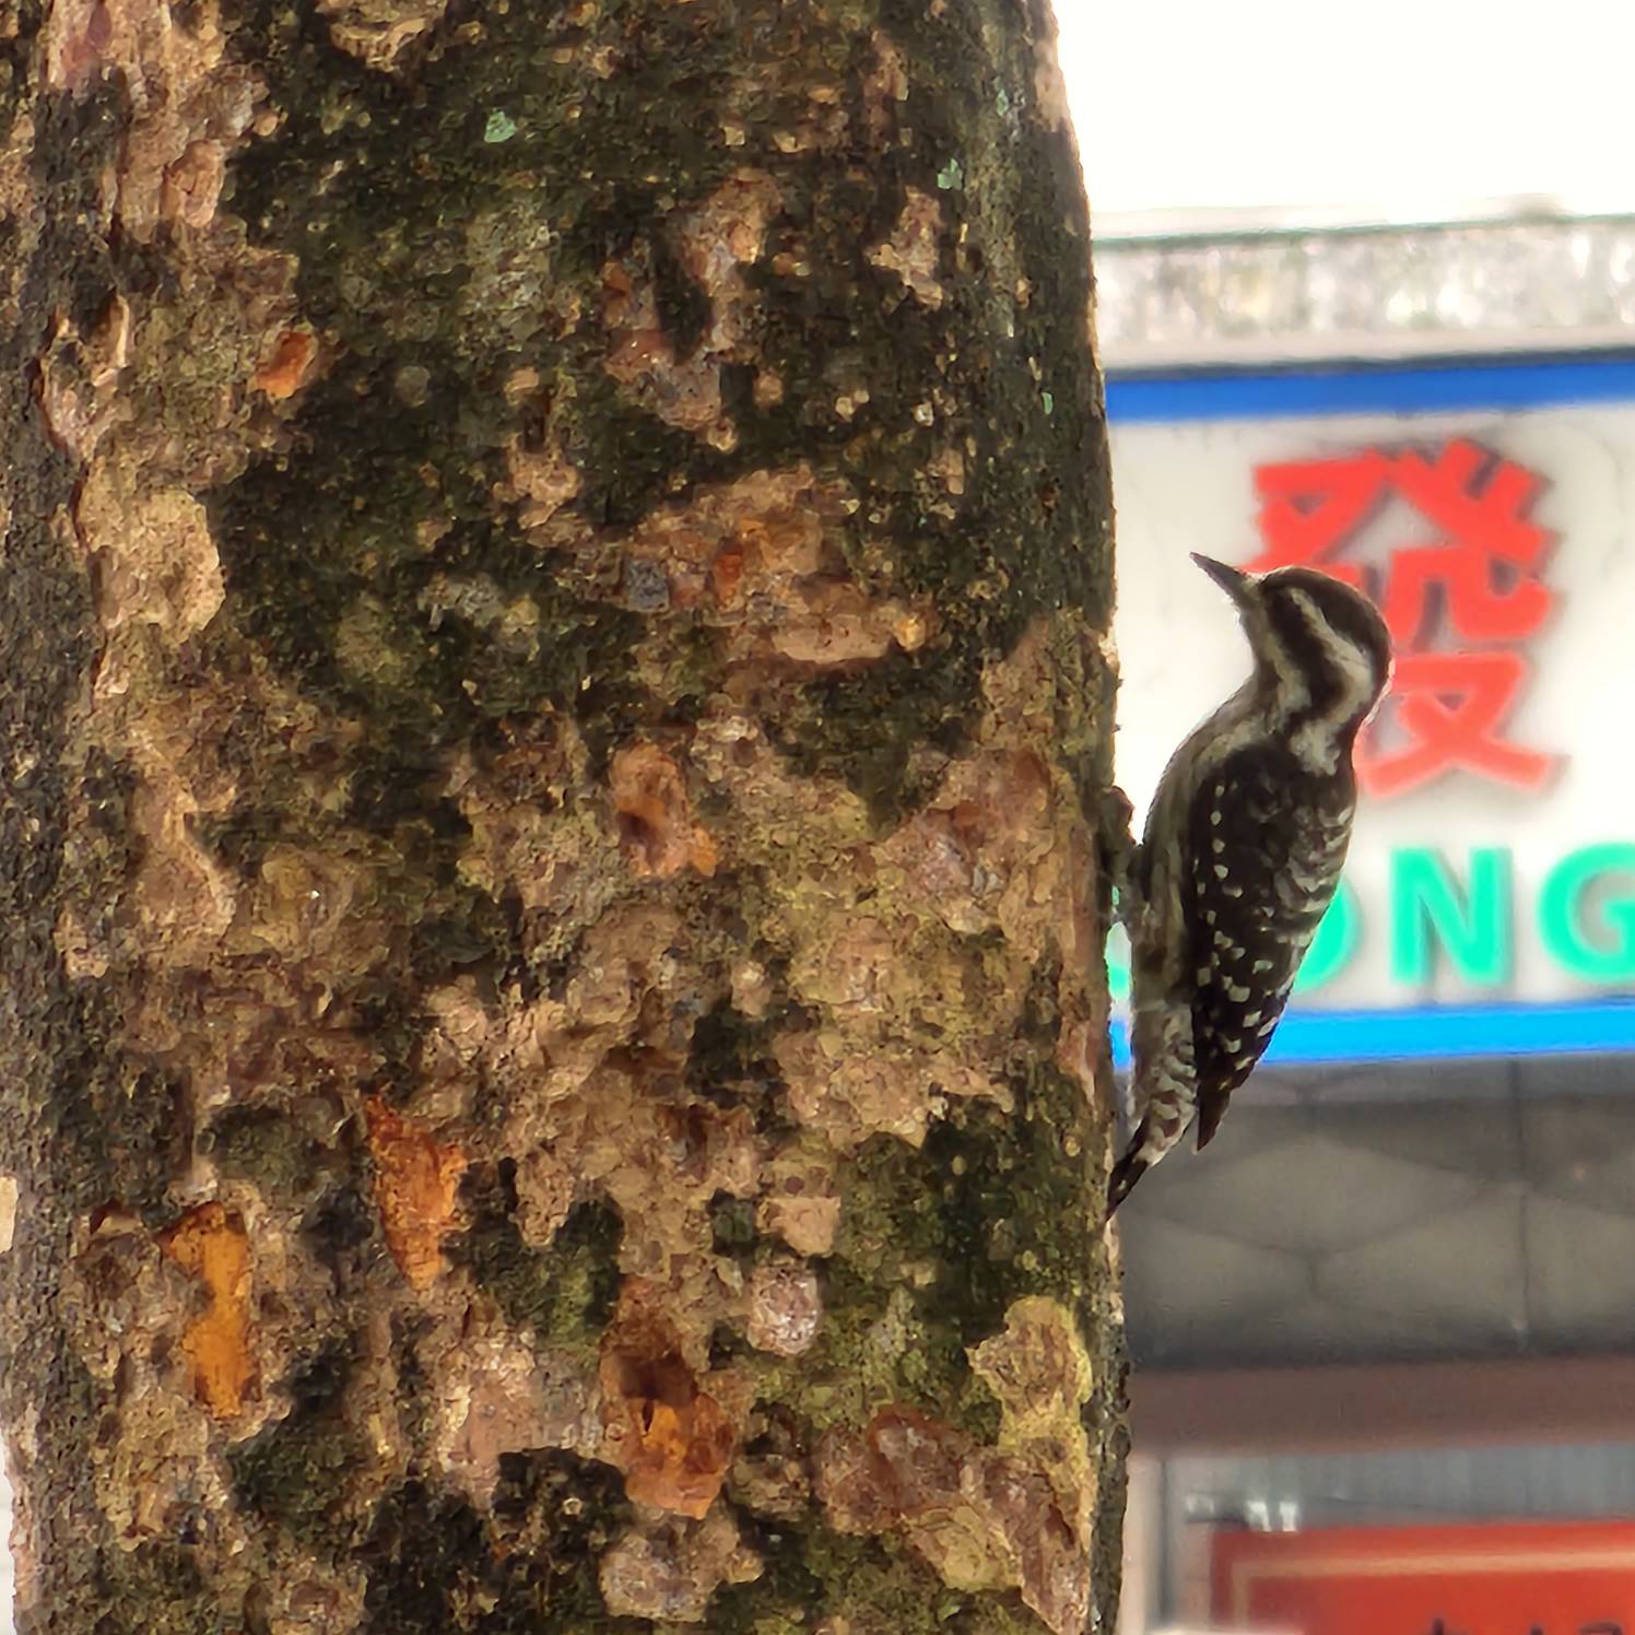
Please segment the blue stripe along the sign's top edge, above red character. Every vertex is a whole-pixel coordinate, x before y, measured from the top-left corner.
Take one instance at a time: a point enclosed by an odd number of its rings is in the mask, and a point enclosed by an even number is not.
[[[1622,353],[1252,374],[1189,370],[1184,374],[1113,374],[1107,381],[1107,419],[1113,425],[1548,409],[1625,401],[1635,401],[1635,356]]]

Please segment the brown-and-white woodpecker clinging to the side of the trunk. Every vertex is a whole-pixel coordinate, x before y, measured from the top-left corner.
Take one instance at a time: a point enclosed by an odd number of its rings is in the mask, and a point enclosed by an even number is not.
[[[1109,1213],[1194,1118],[1208,1144],[1270,1043],[1339,885],[1352,746],[1391,672],[1385,621],[1351,585],[1192,561],[1236,605],[1254,674],[1171,757],[1118,871],[1136,1127]]]

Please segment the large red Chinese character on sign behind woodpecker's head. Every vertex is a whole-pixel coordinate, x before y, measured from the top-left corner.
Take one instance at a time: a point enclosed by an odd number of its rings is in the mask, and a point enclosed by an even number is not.
[[[1362,564],[1333,556],[1391,499],[1429,528],[1429,540],[1391,554],[1378,595],[1398,659],[1386,708],[1357,757],[1364,788],[1390,798],[1455,768],[1540,788],[1552,757],[1504,737],[1527,661],[1463,646],[1519,643],[1550,615],[1552,592],[1537,577],[1550,536],[1527,517],[1540,479],[1463,438],[1434,458],[1367,450],[1261,466],[1254,476],[1265,541],[1248,564],[1254,572],[1303,564],[1364,585]],[[1460,647],[1434,646],[1444,625]]]

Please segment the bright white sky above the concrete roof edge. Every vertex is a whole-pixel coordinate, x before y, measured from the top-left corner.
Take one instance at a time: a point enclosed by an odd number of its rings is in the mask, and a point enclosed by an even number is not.
[[[1099,216],[1635,211],[1630,0],[1055,0]]]

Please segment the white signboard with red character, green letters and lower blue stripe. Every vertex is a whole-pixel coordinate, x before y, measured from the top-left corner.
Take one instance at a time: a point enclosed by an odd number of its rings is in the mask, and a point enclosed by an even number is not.
[[[1351,577],[1393,631],[1283,1055],[1635,1043],[1635,1006],[1609,1006],[1635,992],[1635,401],[1166,423],[1110,399],[1117,768],[1138,813],[1249,672],[1190,551]],[[1339,1012],[1328,1045],[1301,1048],[1318,1012]],[[1378,1012],[1400,1014],[1390,1040]],[[1378,1050],[1337,1043],[1352,1024]]]

